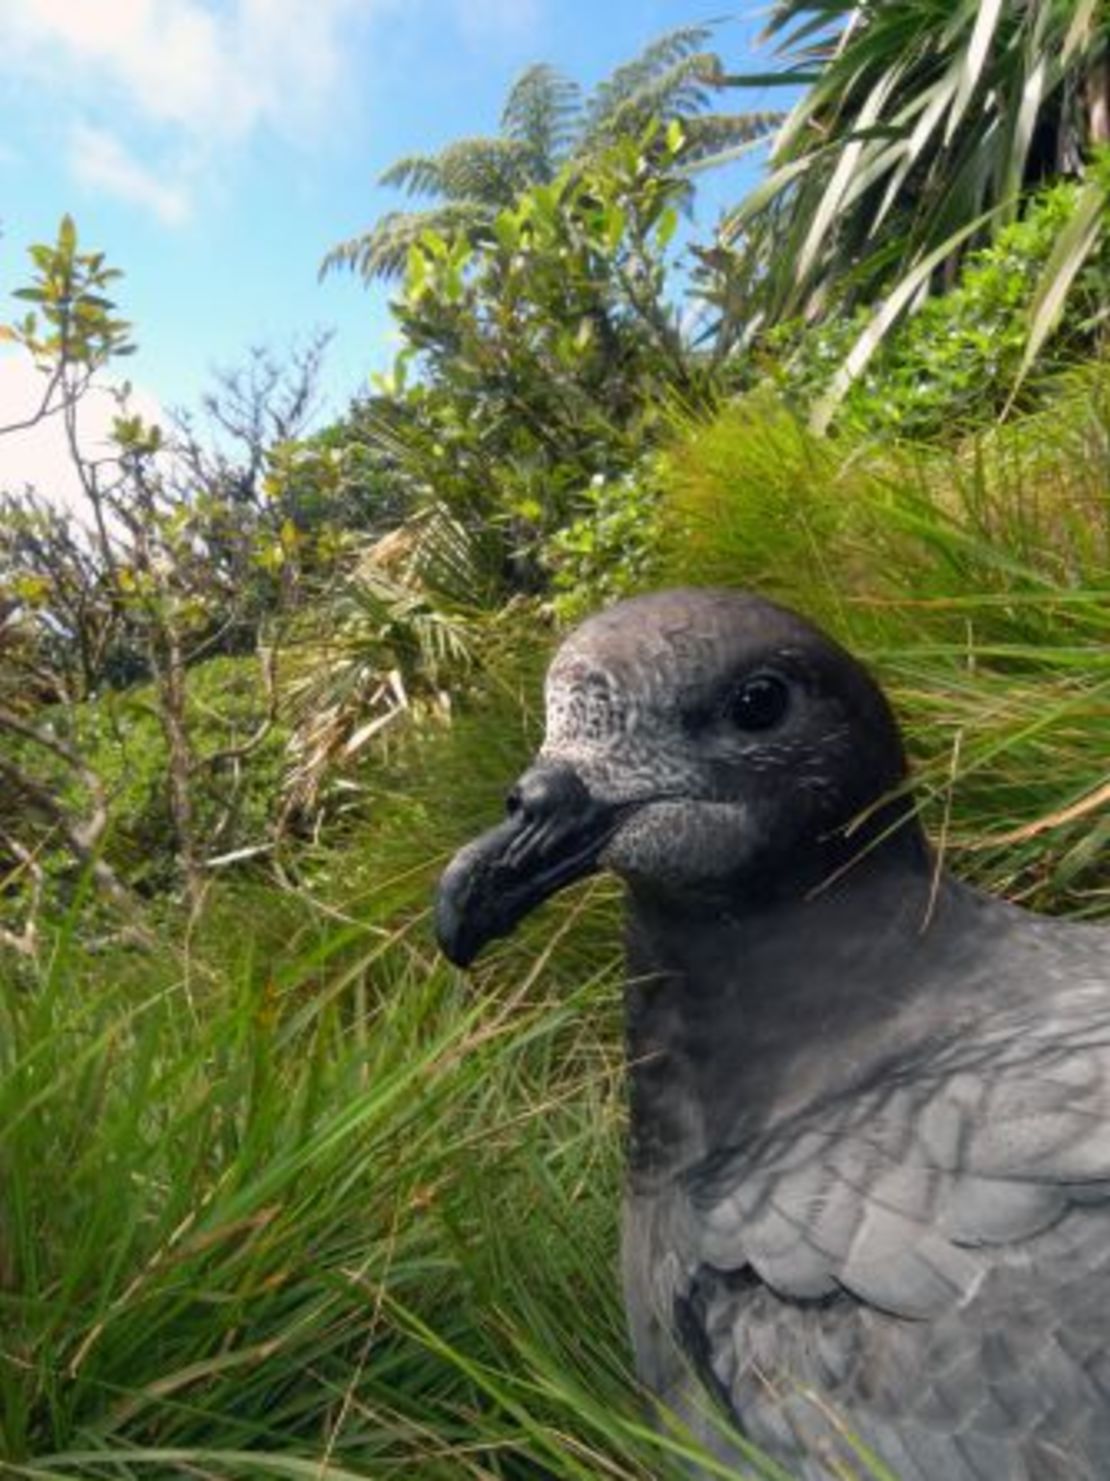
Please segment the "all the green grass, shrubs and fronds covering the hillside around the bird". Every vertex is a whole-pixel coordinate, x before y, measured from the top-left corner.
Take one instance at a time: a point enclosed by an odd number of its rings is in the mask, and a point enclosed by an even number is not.
[[[710,241],[697,170],[774,120],[714,111],[708,33],[585,99],[534,68],[501,136],[391,172],[451,209],[333,255],[391,275],[373,397],[308,432],[322,347],[253,355],[197,419],[122,404],[108,462],[71,432],[84,533],[4,496],[4,1474],[688,1450],[622,1339],[614,887],[468,979],[427,927],[599,601],[812,613],[889,687],[947,862],[1110,914],[1106,22],[947,10],[825,7],[802,64],[781,6],[806,92]],[[953,157],[983,173],[938,195]],[[43,415],[126,354],[122,292],[68,219],[33,249]]]

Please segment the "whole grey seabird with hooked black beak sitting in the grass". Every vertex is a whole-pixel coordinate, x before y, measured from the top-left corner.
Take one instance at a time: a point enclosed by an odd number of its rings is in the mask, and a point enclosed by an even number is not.
[[[1110,933],[938,875],[904,780],[883,695],[791,612],[621,603],[559,650],[440,942],[627,881],[625,1302],[714,1456],[1110,1478]]]

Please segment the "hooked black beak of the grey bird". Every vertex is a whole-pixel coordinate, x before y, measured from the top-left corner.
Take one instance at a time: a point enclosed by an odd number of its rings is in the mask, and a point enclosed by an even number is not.
[[[467,967],[495,936],[597,868],[618,809],[591,797],[578,773],[541,761],[508,795],[508,818],[455,855],[436,892],[443,955]]]

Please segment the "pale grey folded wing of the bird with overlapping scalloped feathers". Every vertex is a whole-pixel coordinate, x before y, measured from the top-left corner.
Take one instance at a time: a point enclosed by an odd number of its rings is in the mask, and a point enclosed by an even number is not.
[[[888,1068],[683,1198],[671,1290],[698,1361],[800,1475],[851,1462],[837,1410],[904,1481],[1104,1474],[1110,1035],[1089,1013]]]

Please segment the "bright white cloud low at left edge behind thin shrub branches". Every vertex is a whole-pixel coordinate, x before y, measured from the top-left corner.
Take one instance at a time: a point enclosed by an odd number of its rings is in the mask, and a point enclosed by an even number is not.
[[[0,427],[33,415],[43,397],[44,379],[27,354],[0,355]],[[129,409],[148,422],[164,422],[159,401],[135,391]],[[119,406],[107,391],[90,392],[80,404],[77,435],[86,458],[107,458],[113,419]],[[74,512],[87,512],[73,467],[61,416],[47,416],[19,432],[0,435],[0,489],[18,493],[25,484]]]

